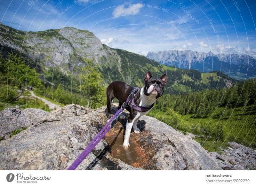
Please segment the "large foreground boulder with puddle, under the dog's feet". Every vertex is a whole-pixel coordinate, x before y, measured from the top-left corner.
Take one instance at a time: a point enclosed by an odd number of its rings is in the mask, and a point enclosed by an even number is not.
[[[112,107],[112,113],[116,110]],[[0,143],[0,169],[66,170],[105,125],[106,113],[106,106],[88,110],[72,104],[45,116]],[[131,147],[123,153],[118,143],[125,123],[119,120],[77,170],[221,170],[191,137],[148,116],[140,118],[141,133],[131,133]]]

